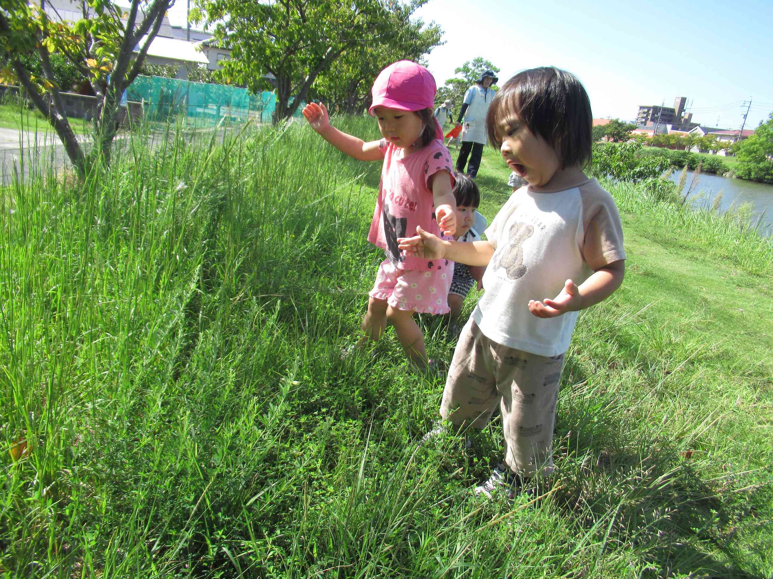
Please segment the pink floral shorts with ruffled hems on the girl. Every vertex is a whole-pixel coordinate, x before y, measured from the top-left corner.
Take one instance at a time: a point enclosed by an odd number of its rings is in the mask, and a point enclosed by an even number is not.
[[[430,262],[432,263],[432,262]],[[376,283],[368,295],[386,300],[397,310],[448,313],[448,289],[454,278],[454,262],[438,260],[431,269],[399,269],[384,259]]]

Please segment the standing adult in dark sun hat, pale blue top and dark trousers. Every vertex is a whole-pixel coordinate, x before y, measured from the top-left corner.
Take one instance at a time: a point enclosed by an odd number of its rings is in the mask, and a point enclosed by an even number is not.
[[[482,73],[475,84],[470,86],[465,93],[465,100],[461,105],[456,121],[461,124],[462,119],[464,119],[467,129],[465,137],[461,141],[459,157],[456,160],[456,170],[459,173],[464,173],[467,157],[469,157],[467,174],[473,178],[478,174],[478,167],[480,167],[483,156],[483,145],[486,142],[485,115],[489,112],[489,104],[491,104],[495,94],[492,85],[496,84],[498,80],[499,78],[491,70]]]

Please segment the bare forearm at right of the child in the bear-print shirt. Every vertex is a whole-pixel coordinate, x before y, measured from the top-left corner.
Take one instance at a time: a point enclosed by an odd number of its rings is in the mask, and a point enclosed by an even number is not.
[[[554,300],[529,300],[529,310],[536,317],[556,317],[576,312],[606,300],[615,292],[625,277],[625,261],[620,259],[596,269],[580,286],[567,279],[564,289]]]

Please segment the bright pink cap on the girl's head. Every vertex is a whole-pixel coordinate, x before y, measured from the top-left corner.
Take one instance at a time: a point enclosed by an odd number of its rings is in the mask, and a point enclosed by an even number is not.
[[[412,111],[431,109],[437,90],[434,76],[424,66],[410,60],[398,60],[376,76],[370,90],[373,104],[368,112],[372,115],[375,107]]]

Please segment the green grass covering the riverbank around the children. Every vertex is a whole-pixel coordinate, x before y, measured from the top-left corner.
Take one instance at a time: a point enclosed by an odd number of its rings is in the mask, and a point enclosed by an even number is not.
[[[339,357],[380,164],[300,125],[122,155],[0,197],[9,577],[773,573],[773,249],[731,216],[611,188],[625,283],[577,325],[557,476],[511,506],[468,493],[499,422],[417,449],[442,381],[392,332]],[[507,174],[487,151],[489,220]]]

